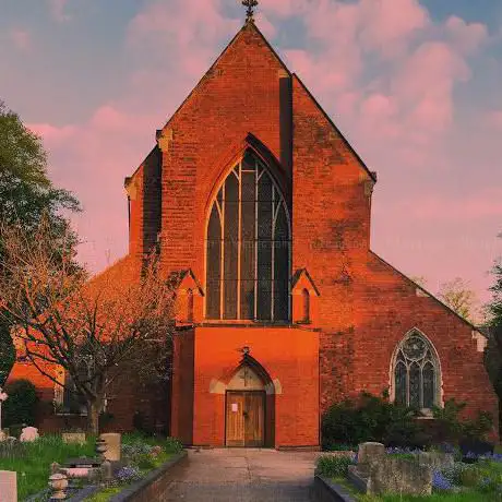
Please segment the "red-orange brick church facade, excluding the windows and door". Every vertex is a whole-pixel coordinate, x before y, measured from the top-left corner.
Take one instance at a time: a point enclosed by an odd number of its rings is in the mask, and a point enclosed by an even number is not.
[[[291,216],[288,323],[204,314],[208,213],[247,150],[273,171]],[[172,435],[225,445],[226,389],[247,347],[266,389],[265,444],[316,447],[330,404],[390,387],[394,350],[414,328],[435,348],[442,402],[455,397],[468,403],[468,413],[497,416],[482,336],[370,250],[374,183],[299,77],[248,23],[157,131],[157,146],[125,183],[130,259],[157,246],[166,276],[184,272],[164,415]],[[16,368],[12,378],[22,373]],[[138,402],[116,402],[116,428],[131,428]]]

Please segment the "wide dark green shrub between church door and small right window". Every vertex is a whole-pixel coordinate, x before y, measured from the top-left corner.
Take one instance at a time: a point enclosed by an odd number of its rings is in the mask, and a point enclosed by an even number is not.
[[[357,445],[379,441],[415,446],[420,439],[416,416],[413,408],[362,393],[357,402],[346,399],[334,404],[323,415],[322,445],[324,450],[334,450],[338,443]]]

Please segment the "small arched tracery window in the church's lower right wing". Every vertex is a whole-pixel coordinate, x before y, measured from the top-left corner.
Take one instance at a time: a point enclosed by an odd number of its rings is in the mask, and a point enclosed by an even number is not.
[[[407,335],[393,362],[396,403],[429,409],[439,404],[439,361],[432,345],[419,332]]]

